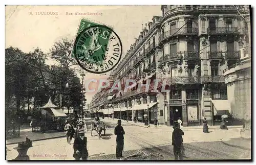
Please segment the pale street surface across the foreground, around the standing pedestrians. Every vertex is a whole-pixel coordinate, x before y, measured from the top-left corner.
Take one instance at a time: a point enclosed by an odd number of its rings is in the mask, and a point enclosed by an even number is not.
[[[107,130],[105,136],[98,139],[96,131],[91,136],[87,132],[88,151],[90,160],[115,160],[116,136],[114,127],[116,121],[105,119]],[[138,150],[146,154],[152,152],[164,156],[165,160],[174,159],[172,142],[172,127],[144,128],[122,122],[125,130],[123,156],[135,154]],[[88,130],[90,126],[88,126]],[[187,158],[185,159],[249,159],[251,151],[227,146],[221,142],[229,138],[239,137],[237,129],[212,130],[210,133],[203,133],[202,130],[187,130],[184,146]],[[74,140],[72,140],[74,142]],[[18,153],[13,150],[16,145],[7,145],[11,151],[7,153],[7,159],[15,158]],[[33,147],[28,150],[30,160],[74,160],[73,145],[68,145],[65,137],[41,140],[33,142]]]

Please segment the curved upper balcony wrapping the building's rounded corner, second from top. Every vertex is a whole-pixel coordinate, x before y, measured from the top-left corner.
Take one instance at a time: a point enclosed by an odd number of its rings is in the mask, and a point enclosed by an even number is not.
[[[197,28],[176,28],[167,32],[164,32],[159,36],[159,43],[161,43],[164,39],[167,39],[169,37],[174,37],[178,35],[197,35],[198,29]]]

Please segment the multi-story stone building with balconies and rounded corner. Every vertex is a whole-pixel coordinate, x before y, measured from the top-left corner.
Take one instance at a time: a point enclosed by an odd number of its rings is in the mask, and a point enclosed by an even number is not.
[[[240,59],[245,20],[230,5],[162,5],[161,10],[111,73],[112,84],[120,79],[122,90],[103,89],[93,99],[94,108],[113,108],[115,117],[137,116],[141,122],[156,117],[168,126],[178,117],[184,126],[199,126],[204,117],[218,125],[230,111],[223,70]],[[125,91],[127,79],[139,83]],[[158,91],[151,90],[154,79],[161,80]],[[146,81],[150,90],[138,91]]]

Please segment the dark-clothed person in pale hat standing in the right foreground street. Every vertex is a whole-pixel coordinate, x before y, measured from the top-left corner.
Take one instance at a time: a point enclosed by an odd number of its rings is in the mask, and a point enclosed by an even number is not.
[[[174,123],[174,131],[173,131],[173,142],[172,145],[174,146],[174,158],[175,160],[178,160],[180,158],[180,160],[183,160],[183,154],[182,154],[182,145],[183,145],[183,138],[182,136],[184,135],[184,132],[178,128],[179,124],[178,123]]]

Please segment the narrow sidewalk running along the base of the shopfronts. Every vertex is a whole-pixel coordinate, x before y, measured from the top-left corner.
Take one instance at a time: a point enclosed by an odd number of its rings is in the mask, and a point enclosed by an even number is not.
[[[108,118],[104,118],[102,119],[103,121],[109,121],[109,122],[113,122],[117,124],[117,120],[118,119],[108,119]],[[126,124],[131,124],[131,125],[136,125],[139,127],[145,127],[148,128],[148,126],[145,126],[144,123],[134,123],[133,121],[129,121],[127,122],[126,120],[122,120],[122,123],[126,123]],[[153,124],[150,124],[150,128],[155,127]],[[229,129],[241,129],[243,126],[228,126]],[[161,128],[161,129],[170,129],[173,128],[172,126],[166,126],[166,125],[158,125],[157,128]],[[202,126],[195,126],[195,127],[183,127],[184,131],[188,131],[188,130],[195,130],[195,129],[203,129]],[[215,129],[220,129],[220,126],[209,126],[209,131],[210,130],[215,130]]]

